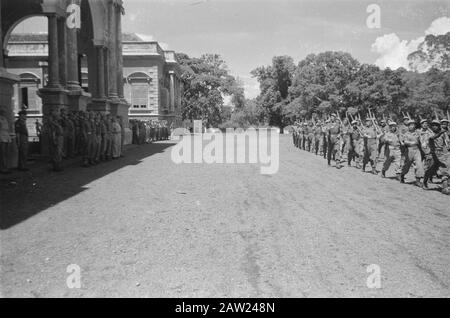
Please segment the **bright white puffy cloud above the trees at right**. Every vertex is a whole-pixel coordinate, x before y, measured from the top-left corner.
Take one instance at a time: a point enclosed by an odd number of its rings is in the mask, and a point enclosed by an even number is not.
[[[434,20],[430,27],[424,32],[427,34],[440,35],[450,31],[450,18],[441,17]],[[409,68],[408,55],[416,51],[425,36],[413,40],[401,40],[397,34],[385,34],[378,37],[372,44],[372,51],[379,55],[375,64],[380,68],[397,69],[399,67]]]

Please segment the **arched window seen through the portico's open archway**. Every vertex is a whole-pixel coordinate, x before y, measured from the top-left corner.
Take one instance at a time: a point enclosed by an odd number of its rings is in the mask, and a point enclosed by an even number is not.
[[[33,73],[22,73],[19,77],[19,108],[40,112],[42,102],[37,94],[40,78]]]

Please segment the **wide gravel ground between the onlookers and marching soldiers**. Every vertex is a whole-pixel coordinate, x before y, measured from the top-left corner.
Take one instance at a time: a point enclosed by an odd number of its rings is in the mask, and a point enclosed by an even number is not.
[[[449,196],[328,168],[289,136],[274,175],[175,165],[172,146],[0,183],[1,296],[450,296]]]

